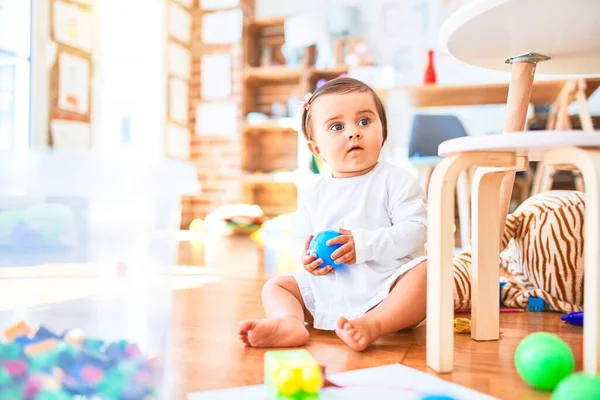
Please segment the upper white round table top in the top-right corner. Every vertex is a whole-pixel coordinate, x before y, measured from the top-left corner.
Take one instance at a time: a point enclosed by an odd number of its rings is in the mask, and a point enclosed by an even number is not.
[[[600,73],[600,1],[477,0],[440,30],[445,52],[470,65],[509,71],[508,57],[551,57],[536,74]]]

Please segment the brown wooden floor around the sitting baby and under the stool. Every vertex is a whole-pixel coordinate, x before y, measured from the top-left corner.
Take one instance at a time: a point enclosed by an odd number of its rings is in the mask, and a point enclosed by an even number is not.
[[[261,288],[276,273],[289,271],[290,259],[247,237],[182,243],[180,263],[202,268],[199,286],[177,291],[175,301],[175,359],[178,386],[185,393],[263,382],[264,349],[244,348],[236,335],[244,318],[264,316]],[[195,272],[197,273],[197,272]],[[517,375],[513,355],[519,341],[537,331],[554,332],[569,343],[581,369],[582,329],[565,325],[556,313],[501,314],[501,339],[475,342],[468,334],[455,335],[455,371],[443,379],[501,399],[547,399],[530,390]],[[308,350],[328,373],[401,363],[428,371],[425,365],[425,328],[381,338],[365,352],[348,349],[334,333],[311,330]],[[431,371],[428,371],[432,373]]]

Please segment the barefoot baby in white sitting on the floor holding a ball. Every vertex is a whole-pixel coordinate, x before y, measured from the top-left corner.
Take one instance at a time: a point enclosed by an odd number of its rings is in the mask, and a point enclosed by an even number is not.
[[[379,161],[387,120],[369,86],[337,78],[309,96],[302,131],[331,173],[299,190],[294,243],[303,268],[269,279],[267,317],[240,322],[238,334],[252,347],[301,346],[308,322],[362,351],[425,319],[425,193],[407,171]],[[342,245],[335,269],[309,254],[323,230],[341,234],[327,243]]]

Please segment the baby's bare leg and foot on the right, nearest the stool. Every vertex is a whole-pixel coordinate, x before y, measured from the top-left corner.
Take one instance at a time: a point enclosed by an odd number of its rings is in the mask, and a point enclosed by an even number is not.
[[[365,315],[338,320],[336,334],[354,350],[362,351],[382,335],[418,325],[427,313],[427,261],[404,274],[389,296]]]

